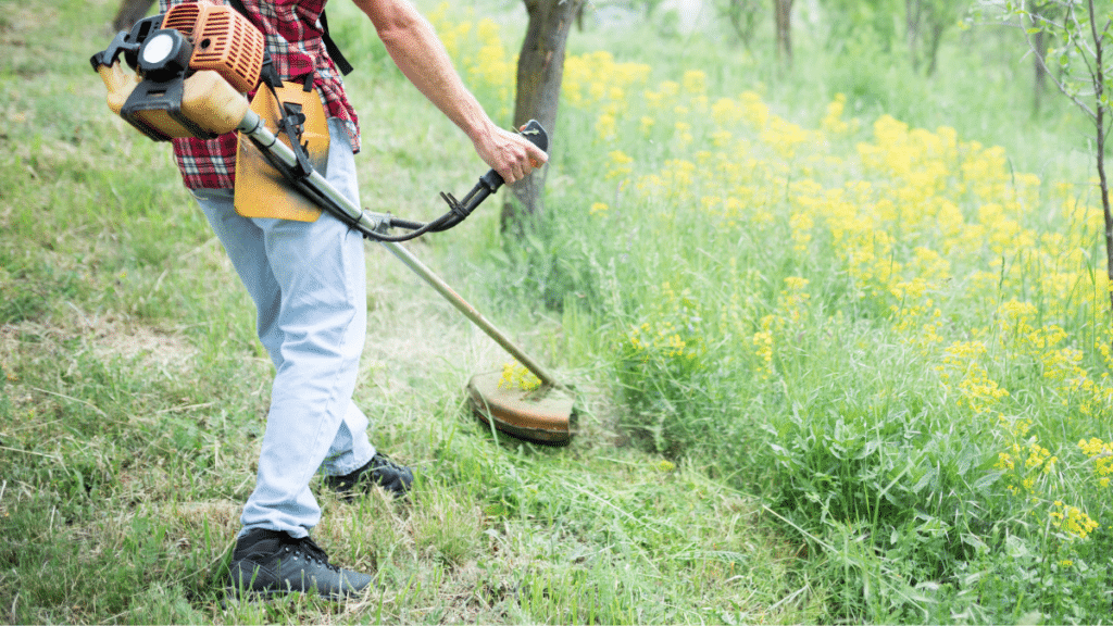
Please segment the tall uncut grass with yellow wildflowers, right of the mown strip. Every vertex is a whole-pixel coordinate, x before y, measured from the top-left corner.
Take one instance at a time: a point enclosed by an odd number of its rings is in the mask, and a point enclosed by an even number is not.
[[[476,23],[450,41],[501,102],[512,55]],[[906,89],[876,49],[806,46],[770,86],[682,43],[568,59],[521,296],[644,449],[767,498],[838,618],[1107,619],[1113,333],[1076,120],[1004,107],[1015,86],[940,106],[986,76],[954,57]]]

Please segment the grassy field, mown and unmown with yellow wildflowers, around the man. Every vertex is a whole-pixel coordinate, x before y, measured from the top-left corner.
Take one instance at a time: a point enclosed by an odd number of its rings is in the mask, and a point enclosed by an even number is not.
[[[483,166],[337,4],[363,202],[437,215]],[[422,6],[509,123],[516,4]],[[168,146],[104,106],[114,11],[0,18],[4,622],[1110,620],[1091,159],[1008,33],[933,79],[821,37],[786,72],[662,17],[574,33],[549,219],[504,241],[492,202],[413,250],[585,390],[581,432],[477,424],[463,385],[508,358],[368,247],[356,400],[415,496],[322,493],[358,601],[225,603],[272,368]]]

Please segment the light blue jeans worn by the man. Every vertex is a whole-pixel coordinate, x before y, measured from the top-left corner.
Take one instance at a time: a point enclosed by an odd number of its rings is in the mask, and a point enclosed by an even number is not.
[[[326,178],[359,206],[347,133],[328,120]],[[352,401],[367,330],[362,236],[323,214],[316,222],[239,216],[230,189],[194,196],[258,311],[275,365],[255,490],[240,521],[305,537],[321,520],[309,490],[319,469],[349,473],[375,454],[367,418]]]

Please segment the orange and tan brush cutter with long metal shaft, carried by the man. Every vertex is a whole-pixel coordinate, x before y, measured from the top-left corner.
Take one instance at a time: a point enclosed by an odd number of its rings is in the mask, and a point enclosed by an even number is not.
[[[132,74],[122,69],[121,53]],[[242,214],[258,216],[252,211],[259,205],[276,205],[278,213],[267,216],[312,222],[324,209],[365,238],[384,245],[540,379],[536,389],[524,389],[530,385],[508,384],[502,371],[474,375],[467,384],[467,397],[475,414],[489,426],[529,441],[556,446],[570,441],[575,418],[570,388],[558,382],[401,245],[463,222],[502,186],[503,179],[495,170],[480,177],[463,199],[442,193],[449,212],[427,224],[354,206],[326,182],[319,165],[315,166],[317,157],[327,154],[328,133],[326,128],[322,144],[322,134],[312,131],[321,127],[313,120],[312,111],[314,105],[319,108],[319,98],[312,90],[312,76],[304,85],[284,85],[273,70],[259,30],[232,7],[209,0],[178,4],[137,22],[130,31],[119,32],[90,61],[108,88],[109,108],[154,140],[208,139],[238,131],[238,163],[258,157],[266,170],[258,186],[243,193],[237,182],[236,209]],[[257,97],[249,102],[245,94],[255,89]],[[548,149],[549,137],[535,120],[521,133],[539,148]],[[260,193],[269,195],[260,200]],[[248,206],[253,197],[254,207]],[[392,228],[407,232],[391,235]]]

